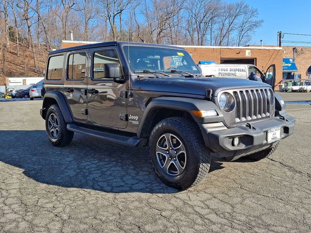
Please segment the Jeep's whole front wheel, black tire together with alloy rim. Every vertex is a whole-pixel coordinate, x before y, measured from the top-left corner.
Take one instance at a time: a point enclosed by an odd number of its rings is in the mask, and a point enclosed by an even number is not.
[[[184,190],[208,173],[211,152],[195,122],[170,117],[155,125],[149,140],[150,158],[159,179]]]

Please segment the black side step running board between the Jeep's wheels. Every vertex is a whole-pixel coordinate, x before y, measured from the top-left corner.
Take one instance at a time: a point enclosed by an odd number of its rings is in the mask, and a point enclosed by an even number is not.
[[[76,124],[67,124],[67,129],[69,131],[73,131],[76,133],[83,133],[88,136],[98,137],[98,138],[104,139],[112,143],[118,143],[118,144],[129,146],[129,147],[144,146],[145,144],[145,139],[139,139],[137,137],[127,137],[127,136],[117,135],[113,133],[105,133],[101,131],[91,130],[91,129],[87,129],[84,127],[80,127]]]

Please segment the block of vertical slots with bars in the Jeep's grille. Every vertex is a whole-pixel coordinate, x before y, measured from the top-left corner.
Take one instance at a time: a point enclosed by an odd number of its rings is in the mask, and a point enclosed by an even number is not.
[[[235,122],[256,120],[271,115],[268,100],[269,89],[249,89],[233,91],[236,101]]]

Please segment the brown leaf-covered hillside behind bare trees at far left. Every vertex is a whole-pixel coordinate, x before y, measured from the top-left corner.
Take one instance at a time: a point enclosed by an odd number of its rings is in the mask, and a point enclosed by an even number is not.
[[[3,73],[3,59],[0,56],[0,85],[5,83],[6,77],[36,77],[43,76],[43,70],[46,66],[46,59],[49,51],[44,45],[40,45],[40,49],[36,45],[35,54],[38,66],[38,72],[35,73],[34,56],[31,48],[24,43],[22,46],[20,43],[18,45],[19,56],[17,56],[17,43],[10,41],[10,48],[7,52],[7,58],[5,63],[5,72]]]

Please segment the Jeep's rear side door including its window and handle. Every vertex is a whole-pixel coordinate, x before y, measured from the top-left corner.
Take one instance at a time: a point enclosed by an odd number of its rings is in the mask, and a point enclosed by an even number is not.
[[[77,121],[86,121],[87,51],[67,53],[64,95],[72,116]]]

